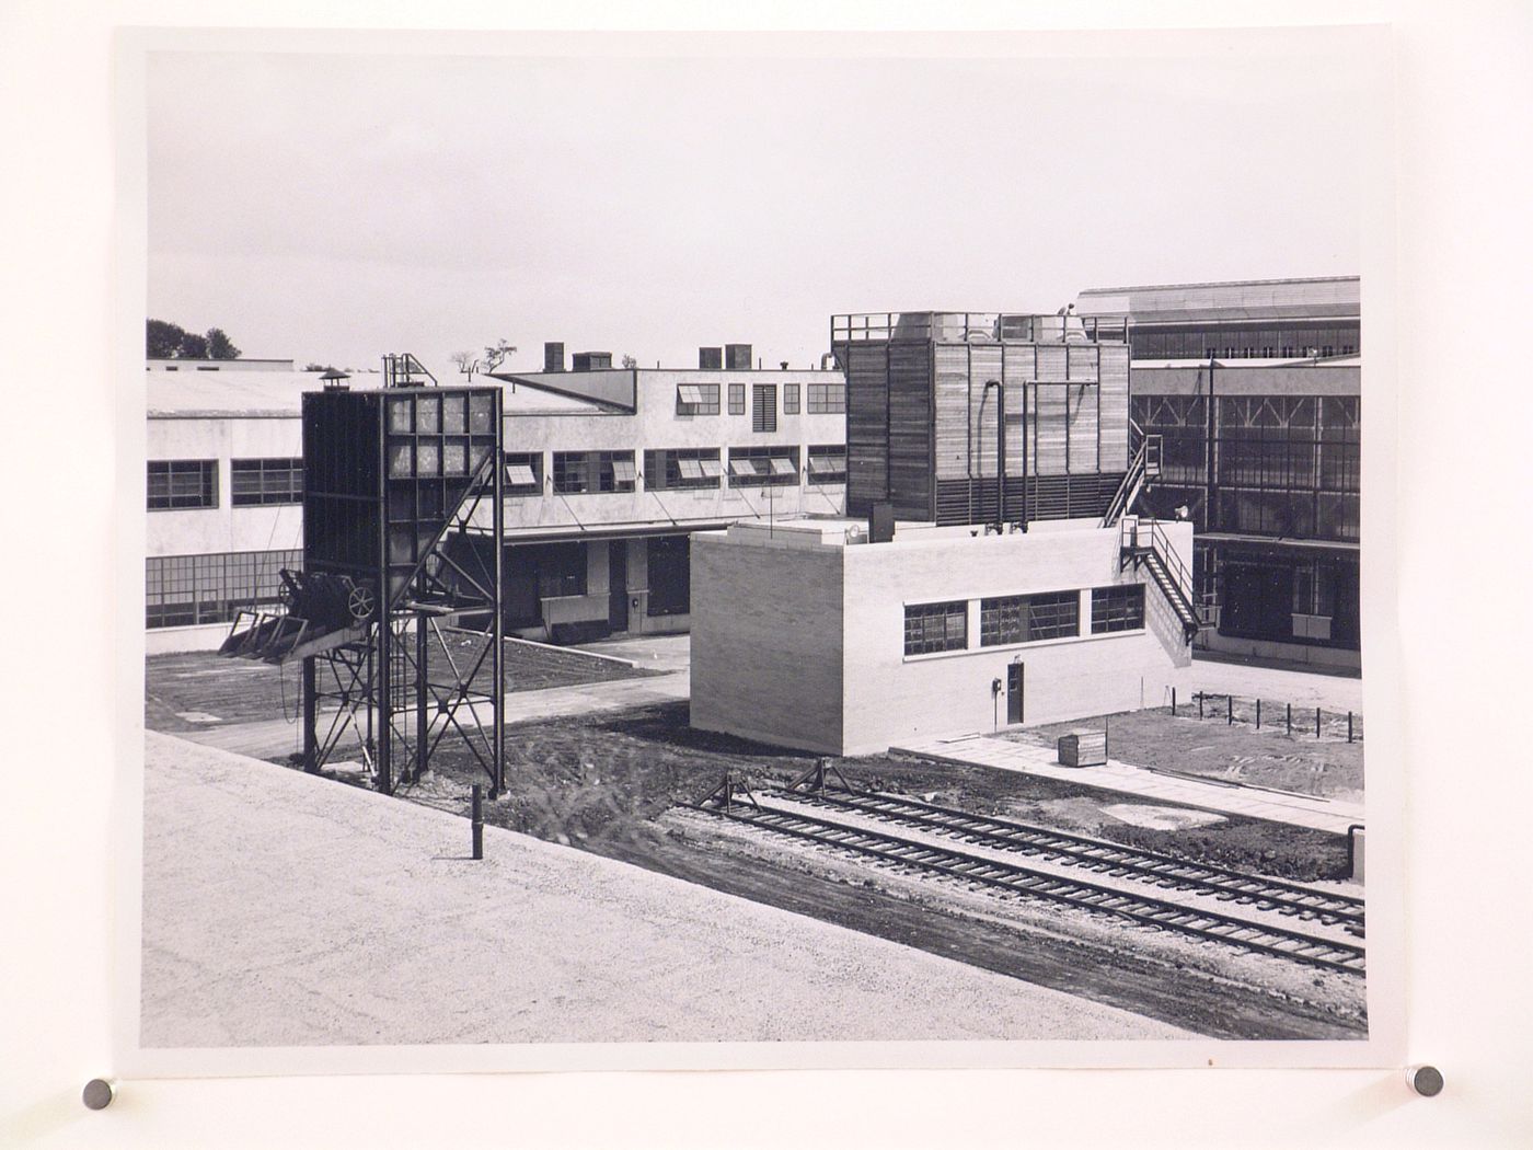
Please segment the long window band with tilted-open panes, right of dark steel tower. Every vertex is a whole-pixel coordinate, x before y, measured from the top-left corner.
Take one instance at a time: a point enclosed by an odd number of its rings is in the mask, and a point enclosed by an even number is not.
[[[506,494],[540,495],[544,481],[541,451],[506,452]],[[555,451],[552,488],[558,495],[636,491],[688,491],[717,488],[794,486],[800,454],[791,446],[730,448],[728,465],[719,448],[664,448],[644,452],[644,472],[635,469],[632,451]],[[846,481],[846,448],[811,446],[805,466],[811,485]]]

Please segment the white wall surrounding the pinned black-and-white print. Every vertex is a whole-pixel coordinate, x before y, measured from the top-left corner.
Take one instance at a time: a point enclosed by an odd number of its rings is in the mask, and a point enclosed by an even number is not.
[[[644,20],[725,20],[711,5],[652,3]],[[113,409],[112,25],[323,23],[477,28],[624,23],[592,5],[12,0],[0,14],[8,173],[5,307],[6,791],[0,803],[0,1144],[189,1145],[1346,1145],[1513,1147],[1533,1141],[1527,1089],[1525,739],[1530,633],[1527,434],[1521,366],[1533,314],[1524,256],[1530,12],[1516,0],[1289,5],[782,5],[779,26],[1000,23],[1167,26],[1387,21],[1398,29],[1400,626],[1409,716],[1407,1043],[1447,1076],[1412,1098],[1395,1070],[842,1072],[529,1075],[388,1081],[127,1083],[104,1113],[80,1089],[110,1073],[112,826],[136,802],[113,788],[117,722],[140,708],[136,652],[113,652],[112,549],[141,526],[112,491],[143,483],[143,419]],[[1364,141],[1364,146],[1367,141]],[[1294,163],[1283,159],[1279,167]],[[1318,158],[1315,163],[1323,163]],[[1377,239],[1377,236],[1375,236]],[[1377,250],[1375,250],[1377,255]],[[1377,264],[1364,264],[1364,282]],[[1082,284],[1084,285],[1084,284]],[[132,313],[132,314],[130,314]],[[1378,362],[1371,348],[1371,362]],[[118,353],[121,354],[121,353]],[[141,371],[138,373],[143,374]],[[1372,386],[1372,382],[1371,382]],[[138,403],[126,397],[127,406]],[[1484,412],[1495,409],[1495,419]],[[133,432],[132,428],[140,431]],[[1371,422],[1371,437],[1383,428]],[[140,437],[140,439],[135,439]],[[1462,477],[1462,478],[1453,478]],[[129,503],[133,500],[129,498]],[[141,503],[140,503],[141,506]],[[133,564],[129,564],[130,567]],[[1375,616],[1377,618],[1377,616]],[[1383,616],[1387,621],[1387,615]],[[1392,644],[1371,647],[1375,656]],[[113,653],[109,653],[113,652]],[[113,658],[117,662],[113,662]],[[115,673],[127,688],[115,695]],[[104,701],[118,698],[113,711]],[[130,748],[127,748],[130,750]],[[1521,914],[1495,917],[1510,895]]]

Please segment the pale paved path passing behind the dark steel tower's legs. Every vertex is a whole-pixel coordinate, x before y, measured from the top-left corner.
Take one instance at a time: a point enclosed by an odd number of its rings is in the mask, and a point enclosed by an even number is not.
[[[569,715],[596,715],[621,711],[630,707],[650,707],[659,702],[685,699],[690,688],[687,672],[671,672],[642,679],[612,679],[609,682],[579,682],[572,687],[549,687],[541,692],[514,692],[506,696],[506,722],[553,719]],[[328,716],[336,711],[320,711],[320,734],[330,727]],[[480,707],[480,715],[489,711]],[[472,718],[468,707],[458,711],[458,721],[468,727]],[[259,722],[230,722],[199,731],[185,731],[179,738],[216,747],[254,759],[276,759],[302,750],[302,727],[287,719],[262,719]],[[356,744],[348,728],[340,748]]]

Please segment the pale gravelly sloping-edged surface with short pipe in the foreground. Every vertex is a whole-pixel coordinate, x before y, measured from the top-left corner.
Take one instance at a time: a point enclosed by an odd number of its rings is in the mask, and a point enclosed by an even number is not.
[[[494,826],[474,862],[461,817],[173,736],[144,751],[146,1047],[1191,1037]]]

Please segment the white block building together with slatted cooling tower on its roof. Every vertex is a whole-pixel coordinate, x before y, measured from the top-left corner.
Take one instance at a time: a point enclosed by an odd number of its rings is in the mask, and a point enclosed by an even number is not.
[[[1070,316],[839,316],[848,511],[693,547],[694,727],[832,754],[1128,710],[1190,661],[1190,521],[1128,343]]]

